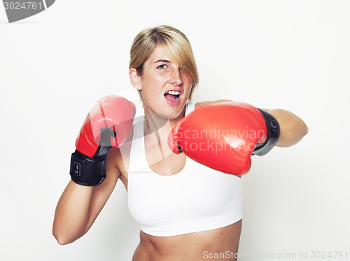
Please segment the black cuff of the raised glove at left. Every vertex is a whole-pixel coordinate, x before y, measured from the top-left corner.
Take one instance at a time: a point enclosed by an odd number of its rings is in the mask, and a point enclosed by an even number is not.
[[[87,157],[76,150],[71,155],[71,179],[79,185],[97,186],[106,178],[107,155]]]

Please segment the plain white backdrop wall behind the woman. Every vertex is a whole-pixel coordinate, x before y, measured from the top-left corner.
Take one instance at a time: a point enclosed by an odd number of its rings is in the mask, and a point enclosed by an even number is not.
[[[0,4],[0,259],[131,259],[139,224],[122,183],[73,244],[57,244],[52,220],[85,115],[131,88],[134,36],[169,24],[193,45],[195,101],[284,108],[309,127],[297,146],[254,157],[243,177],[241,260],[349,260],[349,13],[349,1],[57,0],[8,24]]]

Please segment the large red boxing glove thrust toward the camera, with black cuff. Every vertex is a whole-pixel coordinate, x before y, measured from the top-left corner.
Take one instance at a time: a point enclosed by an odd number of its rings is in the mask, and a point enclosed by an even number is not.
[[[279,138],[276,119],[241,102],[199,106],[183,118],[169,136],[174,153],[228,174],[246,174],[251,155],[265,155]],[[260,144],[259,144],[260,145]]]

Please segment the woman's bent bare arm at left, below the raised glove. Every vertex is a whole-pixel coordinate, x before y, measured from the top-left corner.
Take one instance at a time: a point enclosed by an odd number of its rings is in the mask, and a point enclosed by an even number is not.
[[[69,244],[82,237],[102,211],[120,176],[115,154],[116,150],[111,149],[107,161],[107,177],[97,187],[69,181],[57,204],[52,226],[52,234],[59,244]]]

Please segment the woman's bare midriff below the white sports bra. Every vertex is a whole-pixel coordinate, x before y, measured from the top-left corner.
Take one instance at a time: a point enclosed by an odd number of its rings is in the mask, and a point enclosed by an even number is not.
[[[237,260],[240,234],[241,220],[216,230],[174,237],[154,237],[141,231],[132,261]]]

